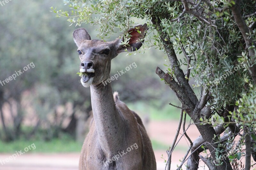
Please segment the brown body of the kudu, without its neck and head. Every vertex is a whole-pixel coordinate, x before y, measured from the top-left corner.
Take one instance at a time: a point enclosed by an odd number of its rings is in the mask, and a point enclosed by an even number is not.
[[[79,169],[155,170],[156,162],[152,144],[140,117],[135,112],[131,111],[124,104],[124,102],[118,99],[118,94],[114,96],[114,98],[117,99],[115,100],[117,110],[124,113],[124,120],[129,127],[126,129],[126,134],[124,137],[127,139],[127,141],[125,141],[125,144],[121,150],[116,150],[116,154],[123,150],[126,152],[126,149],[134,143],[138,144],[139,147],[138,149],[134,149],[128,152],[126,155],[123,155],[118,161],[116,161],[116,163],[107,164],[107,166],[104,166],[103,162],[107,161],[108,156],[100,149],[100,147],[98,148],[97,132],[95,128],[96,125],[93,121],[82,147]],[[109,159],[112,158],[111,156]],[[95,159],[99,161],[95,161]],[[83,160],[86,161],[83,162]]]

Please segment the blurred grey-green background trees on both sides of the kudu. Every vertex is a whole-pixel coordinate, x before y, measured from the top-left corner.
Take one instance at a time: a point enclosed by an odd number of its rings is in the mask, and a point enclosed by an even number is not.
[[[22,71],[29,63],[35,65],[16,80],[0,85],[2,141],[51,141],[66,135],[75,139],[78,121],[86,122],[90,116],[90,89],[81,85],[76,74],[80,63],[72,33],[77,26],[69,26],[65,18],[54,18],[52,5],[69,8],[60,0],[28,0],[26,5],[12,1],[0,10],[0,80]],[[95,28],[99,26],[83,27],[96,38]],[[177,118],[169,112],[178,109],[166,107],[172,92],[157,81],[154,73],[156,66],[164,63],[164,53],[153,49],[138,55],[123,54],[113,61],[111,75],[133,62],[137,64],[137,68],[113,81],[113,90],[119,91],[121,99],[142,117]],[[163,109],[160,114],[159,108]]]

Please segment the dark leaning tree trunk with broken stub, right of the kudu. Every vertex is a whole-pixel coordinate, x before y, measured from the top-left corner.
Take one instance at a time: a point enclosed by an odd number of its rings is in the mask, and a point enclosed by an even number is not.
[[[212,126],[209,124],[206,125],[200,125],[200,112],[201,110],[196,107],[198,100],[195,96],[195,93],[193,92],[191,86],[188,84],[187,79],[185,78],[185,75],[183,73],[183,70],[180,69],[180,65],[178,64],[178,59],[175,54],[174,48],[172,46],[172,42],[168,40],[168,37],[166,37],[166,33],[162,31],[161,28],[161,22],[159,18],[156,18],[155,16],[152,17],[152,23],[156,25],[156,29],[158,33],[160,34],[160,39],[163,43],[165,52],[170,60],[170,65],[172,67],[172,70],[174,71],[175,78],[177,78],[178,82],[174,80],[169,74],[165,74],[161,69],[157,68],[156,73],[160,76],[160,78],[164,78],[165,81],[168,81],[170,83],[170,87],[173,89],[173,91],[176,93],[177,97],[181,101],[184,109],[188,115],[192,118],[193,122],[196,124],[197,129],[199,130],[200,134],[204,138],[204,142],[207,142],[208,149],[210,153],[212,154],[213,160],[216,160],[215,158],[215,148],[218,148],[217,144],[214,144],[214,136],[216,136],[216,132],[213,129]],[[169,79],[169,80],[168,80]],[[179,83],[179,84],[178,84]],[[195,112],[196,110],[196,112]],[[223,152],[223,154],[225,154]],[[195,157],[191,157],[192,159]],[[223,159],[224,163],[220,166],[217,166],[218,170],[232,170],[232,166],[228,159]],[[190,165],[190,170],[198,169],[198,161],[194,160],[193,164]]]

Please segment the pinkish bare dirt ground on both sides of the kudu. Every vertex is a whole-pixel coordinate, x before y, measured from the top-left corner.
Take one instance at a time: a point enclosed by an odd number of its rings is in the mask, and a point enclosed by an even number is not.
[[[157,170],[164,170],[165,163],[164,159],[161,158],[162,154],[164,158],[167,159],[167,154],[164,148],[171,145],[173,138],[178,127],[177,121],[151,121],[146,126],[148,135],[152,142],[156,142],[161,147],[154,148]],[[183,130],[181,129],[180,133]],[[199,136],[199,132],[195,125],[192,125],[187,131],[189,137],[193,141]],[[181,135],[180,135],[181,136]],[[180,137],[179,136],[179,137]],[[179,139],[179,138],[178,138]],[[37,146],[40,147],[40,146]],[[188,143],[185,138],[181,138],[179,145],[177,145],[175,151],[172,154],[172,168],[176,169],[177,165],[180,165],[179,159],[182,159],[188,149]],[[0,154],[0,160],[9,158],[12,154]],[[1,170],[77,170],[79,153],[57,153],[57,154],[47,154],[47,153],[25,153],[16,160],[10,160],[5,164],[1,164]],[[183,169],[186,169],[185,166]],[[204,169],[204,168],[200,168]]]

